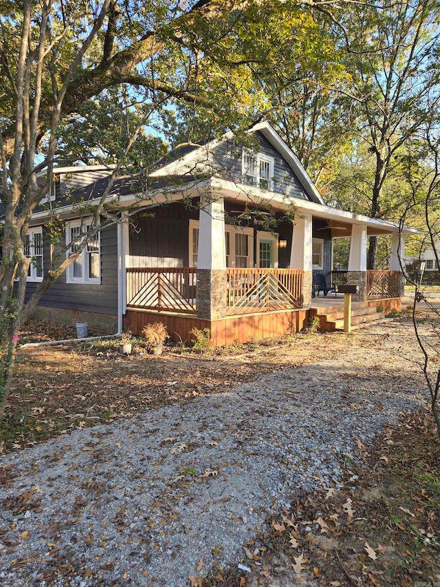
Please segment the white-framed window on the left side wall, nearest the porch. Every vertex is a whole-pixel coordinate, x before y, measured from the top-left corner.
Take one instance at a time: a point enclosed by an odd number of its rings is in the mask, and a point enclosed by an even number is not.
[[[67,256],[74,253],[83,242],[85,235],[91,228],[91,220],[76,220],[66,224]],[[101,282],[101,255],[100,233],[87,243],[78,258],[67,267],[67,284],[100,284]]]

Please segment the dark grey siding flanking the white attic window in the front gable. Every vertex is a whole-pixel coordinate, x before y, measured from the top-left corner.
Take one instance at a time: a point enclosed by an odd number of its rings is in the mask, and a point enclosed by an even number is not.
[[[274,191],[290,195],[293,198],[307,200],[303,186],[285,158],[278,153],[261,132],[257,131],[254,136],[259,142],[259,152],[274,159]],[[219,167],[221,175],[234,182],[241,183],[241,147],[237,147],[232,140],[225,141],[214,148],[214,160],[218,162],[216,167]]]

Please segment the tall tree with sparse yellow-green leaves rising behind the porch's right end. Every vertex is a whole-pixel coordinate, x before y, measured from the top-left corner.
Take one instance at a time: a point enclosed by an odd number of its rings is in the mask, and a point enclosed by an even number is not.
[[[340,18],[347,44],[350,83],[341,87],[358,120],[357,143],[373,158],[368,213],[384,213],[384,190],[402,147],[426,120],[428,96],[439,103],[435,58],[440,33],[437,0],[351,6]],[[370,239],[369,268],[374,268],[377,239]]]

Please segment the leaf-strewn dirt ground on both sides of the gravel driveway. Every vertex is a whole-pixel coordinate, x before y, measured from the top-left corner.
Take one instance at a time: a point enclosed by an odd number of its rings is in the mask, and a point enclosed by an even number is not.
[[[434,308],[440,306],[440,300],[431,301]],[[407,314],[395,320],[408,323],[410,337],[412,299],[405,305]],[[419,323],[439,324],[426,304],[417,306],[416,314]],[[6,418],[0,420],[0,453],[77,427],[190,402],[268,372],[332,356],[343,360],[347,345],[371,352],[380,337],[372,339],[369,332],[356,330],[350,337],[296,334],[208,354],[167,347],[159,357],[147,354],[142,345],[132,356],[121,356],[115,341],[22,349]],[[23,340],[68,335],[65,328],[34,322]],[[440,585],[440,442],[430,413],[406,415],[372,446],[360,444],[358,449],[360,462],[345,464],[337,493],[303,493],[291,511],[278,511],[267,520],[269,531],[250,542],[243,561],[259,571],[252,584],[236,569],[194,584]],[[0,482],[8,483],[11,473],[0,467]],[[318,531],[306,531],[308,526]],[[305,554],[296,556],[298,544]]]

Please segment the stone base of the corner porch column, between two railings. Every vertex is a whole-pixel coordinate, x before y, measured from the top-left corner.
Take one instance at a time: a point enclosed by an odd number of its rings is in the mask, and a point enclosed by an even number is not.
[[[217,269],[197,270],[197,316],[206,320],[226,315],[226,272]]]

